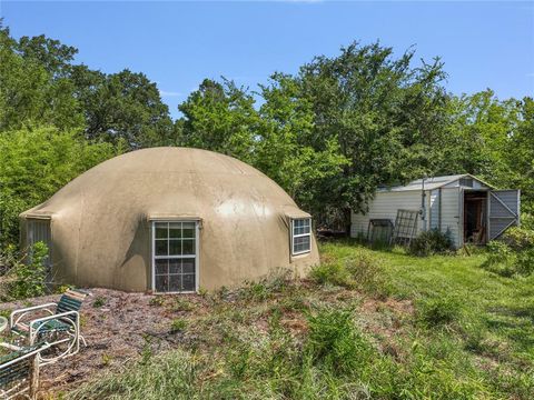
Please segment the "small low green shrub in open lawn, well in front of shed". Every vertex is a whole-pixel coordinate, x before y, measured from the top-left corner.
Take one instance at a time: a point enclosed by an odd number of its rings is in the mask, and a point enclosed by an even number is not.
[[[457,322],[461,314],[461,304],[453,298],[421,300],[417,304],[417,319],[426,327],[439,327]]]

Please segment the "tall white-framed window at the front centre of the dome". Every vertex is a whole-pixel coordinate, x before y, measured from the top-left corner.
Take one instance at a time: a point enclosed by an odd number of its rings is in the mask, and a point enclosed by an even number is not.
[[[152,290],[198,291],[197,221],[152,221]]]

